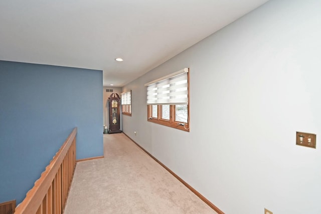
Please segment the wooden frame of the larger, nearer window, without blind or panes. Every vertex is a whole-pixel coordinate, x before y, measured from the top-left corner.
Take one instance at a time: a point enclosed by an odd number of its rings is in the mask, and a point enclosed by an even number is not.
[[[157,105],[157,118],[152,117],[152,105],[147,105],[147,121],[190,132],[190,72],[187,73],[187,122],[176,121],[176,105],[170,105],[170,120],[162,119],[162,105]],[[184,124],[184,125],[181,125]]]

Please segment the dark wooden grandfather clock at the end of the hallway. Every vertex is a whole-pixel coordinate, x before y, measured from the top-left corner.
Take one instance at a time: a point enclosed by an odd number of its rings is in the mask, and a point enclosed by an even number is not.
[[[108,98],[109,105],[109,134],[120,133],[120,99],[119,95],[112,93]]]

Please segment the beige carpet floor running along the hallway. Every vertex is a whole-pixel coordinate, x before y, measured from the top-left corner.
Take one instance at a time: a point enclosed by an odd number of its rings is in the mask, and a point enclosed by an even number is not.
[[[104,158],[77,163],[64,213],[217,212],[119,133],[104,135]]]

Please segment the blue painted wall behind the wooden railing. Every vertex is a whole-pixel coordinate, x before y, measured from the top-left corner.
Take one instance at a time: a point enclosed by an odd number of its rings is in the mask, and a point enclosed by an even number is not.
[[[103,155],[102,71],[0,61],[0,202],[20,203],[74,127]]]

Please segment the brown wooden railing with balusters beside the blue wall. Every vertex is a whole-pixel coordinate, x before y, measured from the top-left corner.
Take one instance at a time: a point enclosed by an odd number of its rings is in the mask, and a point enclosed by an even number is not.
[[[70,133],[15,214],[61,214],[76,166],[77,127]]]

